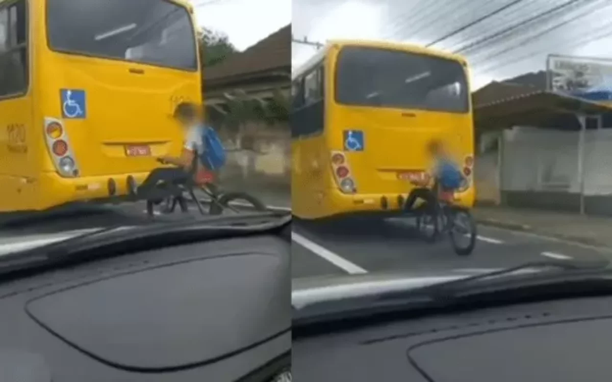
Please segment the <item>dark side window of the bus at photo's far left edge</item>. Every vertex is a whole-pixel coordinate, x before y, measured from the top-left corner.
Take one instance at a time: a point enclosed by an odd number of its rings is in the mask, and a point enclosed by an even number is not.
[[[0,9],[0,97],[28,90],[26,2]]]

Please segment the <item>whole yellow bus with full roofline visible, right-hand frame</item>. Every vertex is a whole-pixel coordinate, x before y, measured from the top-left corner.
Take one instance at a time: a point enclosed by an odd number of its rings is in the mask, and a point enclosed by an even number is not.
[[[293,72],[292,209],[302,219],[396,213],[440,139],[468,179],[474,131],[468,64],[419,46],[332,41]]]

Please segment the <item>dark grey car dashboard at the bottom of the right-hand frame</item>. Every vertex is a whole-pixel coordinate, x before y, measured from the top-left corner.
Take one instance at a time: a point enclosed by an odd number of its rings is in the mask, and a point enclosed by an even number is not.
[[[294,328],[292,370],[299,381],[612,380],[608,297],[297,332]]]

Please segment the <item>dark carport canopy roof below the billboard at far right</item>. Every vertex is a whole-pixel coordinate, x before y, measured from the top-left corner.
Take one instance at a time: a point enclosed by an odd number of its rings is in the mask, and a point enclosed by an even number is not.
[[[513,126],[543,127],[559,116],[597,117],[611,111],[610,106],[601,103],[539,90],[475,105],[474,125],[481,132]]]

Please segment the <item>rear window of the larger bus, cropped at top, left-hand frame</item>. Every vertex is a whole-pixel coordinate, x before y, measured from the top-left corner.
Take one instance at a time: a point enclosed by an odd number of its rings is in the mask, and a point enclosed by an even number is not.
[[[47,32],[55,51],[198,68],[189,13],[166,0],[47,0]]]

